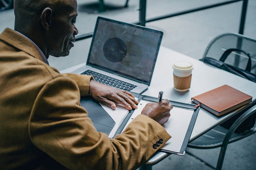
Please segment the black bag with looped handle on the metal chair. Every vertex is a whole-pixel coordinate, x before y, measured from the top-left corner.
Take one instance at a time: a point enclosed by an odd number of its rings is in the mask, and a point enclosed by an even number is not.
[[[244,53],[246,56],[248,56],[248,63],[246,65],[245,70],[243,70],[241,68],[238,68],[236,66],[231,66],[229,64],[224,63],[226,58],[228,57],[228,55],[232,51],[239,51],[239,52]],[[226,70],[226,71],[231,72],[233,74],[239,75],[240,77],[243,77],[245,79],[251,80],[251,81],[256,83],[256,75],[251,73],[251,67],[252,67],[251,56],[250,56],[250,54],[246,53],[243,50],[230,48],[230,49],[227,49],[222,54],[222,56],[219,60],[216,60],[216,59],[211,58],[211,57],[204,57],[204,58],[200,59],[200,61],[202,61],[204,63],[207,63],[207,64],[210,64],[212,66],[215,66],[217,68]],[[226,129],[229,129],[231,127],[231,125],[234,123],[234,121],[236,121],[245,111],[246,110],[244,110],[244,111],[238,113],[237,115],[231,117],[230,119],[228,119],[227,121],[222,123],[221,126],[223,126]],[[256,119],[256,114],[253,114],[252,116],[248,117],[240,126],[238,126],[235,133],[243,133],[246,130],[250,130],[255,124],[255,119]]]

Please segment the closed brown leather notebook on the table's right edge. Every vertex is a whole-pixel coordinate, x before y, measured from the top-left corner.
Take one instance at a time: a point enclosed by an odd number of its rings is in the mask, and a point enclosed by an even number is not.
[[[250,103],[252,96],[228,85],[223,85],[191,99],[194,100],[194,103],[200,103],[202,108],[219,117]]]

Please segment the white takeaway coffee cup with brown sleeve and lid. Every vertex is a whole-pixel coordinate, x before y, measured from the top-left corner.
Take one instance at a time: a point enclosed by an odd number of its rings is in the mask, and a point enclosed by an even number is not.
[[[177,61],[173,63],[172,68],[174,89],[187,91],[191,84],[193,64],[188,61]]]

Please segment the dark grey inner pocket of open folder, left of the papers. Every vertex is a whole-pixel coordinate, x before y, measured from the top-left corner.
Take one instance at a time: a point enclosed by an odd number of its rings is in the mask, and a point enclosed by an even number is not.
[[[80,103],[88,112],[88,117],[93,122],[96,130],[109,135],[115,125],[111,116],[90,96],[81,97]]]

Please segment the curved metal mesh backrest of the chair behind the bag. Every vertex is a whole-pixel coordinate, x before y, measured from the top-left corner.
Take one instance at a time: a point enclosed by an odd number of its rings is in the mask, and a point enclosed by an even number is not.
[[[214,38],[206,48],[203,57],[219,60],[227,49],[240,49],[251,56],[251,73],[256,75],[256,39],[237,33],[225,33]],[[225,60],[226,64],[245,70],[248,57],[239,51],[233,51]]]

